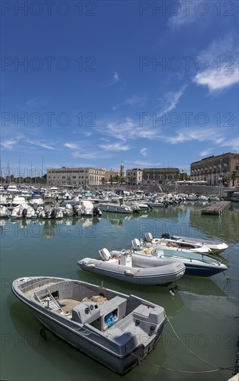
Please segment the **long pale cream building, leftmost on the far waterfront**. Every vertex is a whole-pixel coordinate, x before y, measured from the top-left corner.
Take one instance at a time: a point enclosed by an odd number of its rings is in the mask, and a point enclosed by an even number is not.
[[[47,170],[47,184],[54,186],[98,186],[104,182],[104,168],[51,168]]]

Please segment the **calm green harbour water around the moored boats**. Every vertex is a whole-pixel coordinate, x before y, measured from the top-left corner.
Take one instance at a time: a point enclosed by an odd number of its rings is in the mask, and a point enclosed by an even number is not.
[[[10,290],[11,282],[21,276],[59,276],[97,285],[103,281],[104,287],[164,307],[169,323],[160,342],[124,380],[231,378],[233,369],[218,371],[216,366],[233,368],[238,353],[239,204],[231,203],[220,216],[201,215],[202,207],[202,202],[183,202],[133,215],[103,212],[101,218],[0,220],[1,380],[122,379],[49,331],[46,341],[41,339],[41,324]],[[229,248],[220,258],[229,269],[211,278],[183,276],[177,282],[180,291],[172,296],[170,286],[133,285],[83,272],[77,266],[77,260],[96,258],[103,247],[128,249],[133,238],[147,231],[157,237],[171,233],[226,242]]]

